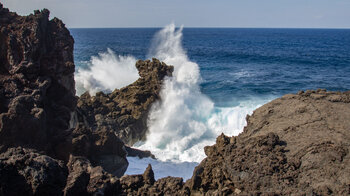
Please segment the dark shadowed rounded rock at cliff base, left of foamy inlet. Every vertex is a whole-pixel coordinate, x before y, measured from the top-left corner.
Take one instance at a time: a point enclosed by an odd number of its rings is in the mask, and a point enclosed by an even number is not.
[[[67,149],[63,157],[67,155],[86,157],[93,166],[101,166],[118,177],[124,174],[129,165],[124,143],[111,130],[92,131],[79,124],[67,137],[66,142],[57,148]]]

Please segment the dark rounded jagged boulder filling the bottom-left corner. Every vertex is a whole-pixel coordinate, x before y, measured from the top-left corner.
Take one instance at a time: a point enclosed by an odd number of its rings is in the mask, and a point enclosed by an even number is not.
[[[0,154],[0,195],[62,195],[67,175],[63,161],[31,149]]]

